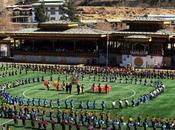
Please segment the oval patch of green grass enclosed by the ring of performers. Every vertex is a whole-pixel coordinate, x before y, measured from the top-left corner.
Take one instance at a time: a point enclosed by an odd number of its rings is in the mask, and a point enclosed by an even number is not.
[[[53,80],[57,79],[57,75],[53,75]],[[49,78],[45,78],[49,79]],[[61,83],[64,80],[64,76],[61,77]],[[67,83],[70,82],[70,80],[65,81]],[[101,83],[101,84],[110,84],[112,86],[112,91],[108,94],[106,93],[93,93],[91,90],[91,86],[94,83],[93,80],[88,80],[88,78],[85,78],[83,81],[79,82],[80,84],[84,84],[84,94],[77,94],[77,88],[76,85],[73,85],[72,94],[67,94],[66,91],[63,91],[60,89],[59,91],[55,91],[54,88],[51,88],[49,91],[46,90],[43,83],[35,83],[35,84],[28,84],[24,86],[20,86],[17,88],[9,89],[8,92],[12,96],[24,96],[26,98],[40,98],[40,99],[49,99],[57,101],[57,99],[68,99],[68,100],[75,100],[75,101],[84,101],[87,100],[94,101],[97,100],[98,102],[102,102],[103,100],[107,103],[110,103],[111,101],[118,101],[119,99],[132,99],[135,97],[139,97],[140,95],[143,95],[145,93],[148,93],[149,91],[153,90],[150,86],[144,86],[144,85],[134,85],[134,84],[124,84],[124,83],[118,83],[118,82],[98,82],[95,81],[95,83]]]

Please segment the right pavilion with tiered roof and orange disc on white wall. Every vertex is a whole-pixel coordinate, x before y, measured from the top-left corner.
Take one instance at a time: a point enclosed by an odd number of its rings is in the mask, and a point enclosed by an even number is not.
[[[120,66],[161,67],[174,63],[168,56],[173,33],[165,31],[171,25],[170,21],[142,17],[122,22],[128,25],[128,29],[111,34],[111,41],[120,44],[117,50],[122,54],[119,55]]]

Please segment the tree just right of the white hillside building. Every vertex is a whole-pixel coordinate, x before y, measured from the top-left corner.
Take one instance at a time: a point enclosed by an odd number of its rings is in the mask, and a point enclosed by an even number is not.
[[[79,21],[77,6],[74,0],[69,0],[68,2],[65,3],[61,14],[62,14],[62,17],[60,18],[61,20],[69,20],[72,22]]]

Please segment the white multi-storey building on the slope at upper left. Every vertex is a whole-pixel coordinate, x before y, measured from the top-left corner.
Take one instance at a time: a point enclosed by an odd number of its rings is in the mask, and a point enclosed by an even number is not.
[[[0,2],[1,3],[1,2]],[[46,7],[46,14],[48,16],[48,20],[59,20],[62,14],[60,13],[61,8],[63,4],[65,3],[65,0],[39,0],[36,3],[33,3],[31,5],[11,5],[11,6],[5,6],[5,4],[2,3],[1,5],[4,5],[8,10],[12,12],[12,22],[14,23],[36,23],[35,19],[35,13],[36,8],[44,4]],[[12,4],[12,3],[11,3]]]

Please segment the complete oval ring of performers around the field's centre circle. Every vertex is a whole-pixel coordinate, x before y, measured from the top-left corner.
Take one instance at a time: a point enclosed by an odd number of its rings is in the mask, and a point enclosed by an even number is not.
[[[3,65],[2,65],[3,66]],[[4,68],[4,66],[1,69]],[[10,65],[6,65],[6,66],[10,66]],[[10,67],[14,67],[14,68],[20,68],[21,70],[25,70],[26,73],[28,71],[29,68],[36,68],[36,66],[25,66],[25,65],[21,65],[21,66],[16,66],[14,64],[12,64]],[[40,68],[40,66],[37,66],[37,68]],[[6,67],[5,67],[6,68]],[[25,68],[25,69],[24,69]],[[26,69],[27,68],[27,69]],[[35,69],[34,69],[35,70]],[[63,69],[64,70],[64,69]],[[71,70],[71,68],[70,68]],[[39,70],[37,70],[39,71]],[[73,73],[75,73],[76,71],[74,71]],[[109,76],[109,78],[108,78]],[[65,75],[65,77],[68,78],[67,75]],[[107,78],[106,78],[107,77]],[[66,79],[67,79],[66,78]],[[82,79],[84,78],[83,75],[78,75],[77,78]],[[162,82],[160,81],[153,81],[152,79],[137,79],[136,77],[127,77],[126,76],[119,76],[118,75],[115,76],[110,76],[109,74],[106,75],[97,75],[96,76],[89,76],[89,80],[93,79],[93,81],[110,81],[110,82],[115,82],[116,80],[118,80],[119,83],[134,83],[134,84],[144,84],[144,85],[151,85],[154,87],[154,89],[149,92],[148,94],[144,94],[139,96],[136,99],[132,99],[130,101],[128,101],[127,99],[119,99],[118,101],[111,101],[110,106],[108,103],[108,108],[125,108],[128,106],[138,106],[139,104],[145,103],[149,100],[154,99],[155,97],[157,97],[158,95],[160,95],[161,93],[164,92],[165,86],[162,84]],[[60,79],[60,77],[58,77],[58,79]],[[50,80],[52,80],[52,76],[50,77]],[[44,76],[42,77],[33,77],[33,78],[26,78],[26,79],[20,79],[20,80],[16,80],[13,82],[9,82],[9,83],[5,83],[0,85],[0,88],[2,91],[1,96],[3,97],[4,101],[9,103],[9,104],[18,104],[18,105],[27,105],[27,106],[42,106],[42,107],[50,107],[50,108],[54,108],[54,107],[58,107],[58,108],[71,108],[71,109],[102,109],[105,110],[107,108],[107,103],[105,101],[101,101],[101,102],[97,102],[97,101],[74,101],[73,99],[68,100],[66,99],[65,101],[58,99],[57,102],[54,102],[53,100],[47,100],[47,99],[25,99],[24,97],[18,97],[18,96],[11,96],[7,91],[6,88],[11,88],[11,87],[17,87],[20,85],[25,85],[28,83],[35,83],[35,82],[42,82],[44,81]],[[72,91],[72,84],[68,84],[65,83],[63,81],[61,86],[65,86],[63,87],[63,89],[65,88],[66,92],[71,94]],[[77,94],[80,93],[84,93],[83,91],[84,86],[83,84],[80,86],[79,84],[77,84]],[[64,102],[64,103],[63,103]],[[85,104],[85,105],[84,105]]]

